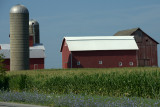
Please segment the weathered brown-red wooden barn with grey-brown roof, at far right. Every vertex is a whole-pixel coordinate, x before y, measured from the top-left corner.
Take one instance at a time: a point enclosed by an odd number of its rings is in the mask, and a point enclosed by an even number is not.
[[[122,30],[114,34],[114,36],[134,36],[139,50],[137,51],[138,66],[158,66],[157,45],[156,40],[140,28]]]

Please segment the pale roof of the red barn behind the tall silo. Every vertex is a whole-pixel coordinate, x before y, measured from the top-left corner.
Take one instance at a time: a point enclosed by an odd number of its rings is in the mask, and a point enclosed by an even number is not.
[[[3,54],[5,59],[10,59],[10,44],[0,44],[0,54]],[[45,48],[43,44],[36,44],[30,47],[30,58],[45,58]]]

